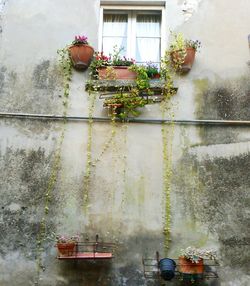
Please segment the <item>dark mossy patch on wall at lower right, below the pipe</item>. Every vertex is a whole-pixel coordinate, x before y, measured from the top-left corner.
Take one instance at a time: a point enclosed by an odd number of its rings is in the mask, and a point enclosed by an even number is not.
[[[198,192],[197,218],[216,233],[224,264],[248,269],[250,154],[207,159],[197,168],[204,186]]]

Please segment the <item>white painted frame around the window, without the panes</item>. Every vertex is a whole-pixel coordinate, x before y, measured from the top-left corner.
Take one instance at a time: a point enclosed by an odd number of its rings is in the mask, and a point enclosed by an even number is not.
[[[128,10],[132,13],[132,19],[134,21],[136,20],[135,17],[133,17],[133,12],[135,11],[158,11],[161,13],[161,52],[160,56],[164,56],[164,52],[166,49],[166,10],[165,6],[130,6],[130,5],[101,5],[100,7],[100,22],[99,22],[99,33],[98,33],[98,51],[102,50],[102,36],[103,36],[103,14],[104,10],[114,10],[114,11],[124,11]],[[134,13],[135,15],[135,13]],[[132,24],[133,25],[133,24]],[[128,29],[131,31],[132,27],[128,26]],[[133,33],[135,33],[135,30],[132,30]],[[132,38],[135,38],[135,35],[132,36]],[[128,39],[129,40],[129,39]],[[128,45],[129,47],[133,47],[133,45]],[[135,48],[135,47],[134,47]],[[133,49],[127,51],[128,58],[133,58],[135,55],[135,51]]]

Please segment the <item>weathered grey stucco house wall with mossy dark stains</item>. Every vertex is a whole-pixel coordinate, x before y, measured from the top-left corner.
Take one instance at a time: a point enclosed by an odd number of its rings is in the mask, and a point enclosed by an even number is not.
[[[63,114],[56,51],[76,34],[97,48],[99,1],[33,2],[0,1],[0,112]],[[248,120],[250,3],[167,2],[167,28],[202,42],[168,116]],[[87,78],[73,72],[69,115],[89,114]],[[93,114],[107,115],[98,97]],[[147,116],[161,118],[159,106]],[[144,278],[142,256],[176,258],[195,245],[219,254],[220,279],[202,285],[247,286],[249,129],[1,117],[0,285],[159,285]],[[115,258],[56,260],[55,234],[76,233],[116,242]]]

